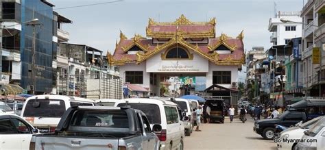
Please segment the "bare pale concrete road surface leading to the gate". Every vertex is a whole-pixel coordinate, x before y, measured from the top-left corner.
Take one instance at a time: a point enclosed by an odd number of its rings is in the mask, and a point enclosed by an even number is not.
[[[263,140],[253,132],[254,121],[248,115],[247,118],[245,123],[239,118],[234,118],[232,123],[229,118],[224,124],[202,123],[202,132],[193,131],[191,136],[186,136],[184,149],[277,149],[273,140]]]

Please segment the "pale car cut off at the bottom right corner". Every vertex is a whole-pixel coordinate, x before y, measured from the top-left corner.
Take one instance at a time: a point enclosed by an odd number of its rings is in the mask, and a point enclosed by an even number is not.
[[[325,117],[320,118],[311,129],[304,132],[295,147],[296,150],[300,149],[324,149],[325,145]]]

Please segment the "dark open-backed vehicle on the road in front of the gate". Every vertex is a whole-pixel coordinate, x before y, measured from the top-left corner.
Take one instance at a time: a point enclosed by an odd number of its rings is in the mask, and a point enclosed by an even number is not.
[[[206,99],[204,103],[203,112],[206,112],[206,107],[210,107],[210,122],[218,121],[219,123],[224,123],[226,105],[223,99]],[[204,120],[206,116],[204,115]]]

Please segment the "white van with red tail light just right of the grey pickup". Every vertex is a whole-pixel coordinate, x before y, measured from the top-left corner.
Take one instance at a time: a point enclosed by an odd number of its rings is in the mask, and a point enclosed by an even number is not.
[[[115,107],[130,106],[141,110],[147,116],[150,126],[160,125],[161,132],[155,132],[160,140],[160,149],[184,149],[184,125],[178,105],[163,99],[121,99]]]

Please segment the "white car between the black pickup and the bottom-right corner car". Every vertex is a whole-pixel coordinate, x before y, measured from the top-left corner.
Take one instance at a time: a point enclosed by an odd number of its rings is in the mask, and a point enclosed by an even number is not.
[[[304,135],[304,131],[310,129],[317,123],[318,120],[320,120],[322,116],[319,116],[317,118],[313,118],[310,121],[307,121],[306,123],[302,123],[295,127],[290,127],[288,129],[285,129],[280,133],[278,137],[278,150],[291,150],[296,147],[298,142],[286,142],[286,140],[294,140],[294,139],[300,139]]]

